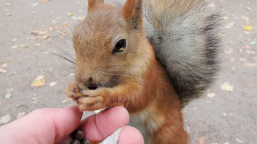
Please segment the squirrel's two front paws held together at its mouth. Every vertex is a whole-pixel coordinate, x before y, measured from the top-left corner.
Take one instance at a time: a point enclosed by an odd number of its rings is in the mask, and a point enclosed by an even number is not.
[[[105,97],[108,97],[108,90],[105,87],[90,90],[78,83],[69,83],[66,95],[78,104],[80,111],[94,111],[107,107]]]

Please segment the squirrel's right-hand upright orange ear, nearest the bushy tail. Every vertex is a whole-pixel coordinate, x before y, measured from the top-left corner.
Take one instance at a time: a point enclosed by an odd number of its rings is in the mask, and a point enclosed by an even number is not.
[[[123,16],[132,22],[133,28],[139,28],[142,19],[142,0],[127,0],[123,7]]]

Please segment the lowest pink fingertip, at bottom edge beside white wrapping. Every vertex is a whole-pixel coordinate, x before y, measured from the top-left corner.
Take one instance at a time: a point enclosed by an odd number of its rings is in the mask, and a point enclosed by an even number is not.
[[[144,144],[142,134],[133,127],[126,127],[120,132],[118,144]]]

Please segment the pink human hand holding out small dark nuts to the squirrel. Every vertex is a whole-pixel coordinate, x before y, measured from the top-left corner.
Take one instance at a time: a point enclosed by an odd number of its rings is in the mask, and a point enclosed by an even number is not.
[[[84,130],[89,141],[103,141],[128,124],[128,111],[114,107],[81,121],[82,112],[76,106],[60,109],[37,109],[28,115],[0,127],[2,144],[70,143],[70,134]],[[132,127],[122,129],[118,144],[143,144],[142,135]]]

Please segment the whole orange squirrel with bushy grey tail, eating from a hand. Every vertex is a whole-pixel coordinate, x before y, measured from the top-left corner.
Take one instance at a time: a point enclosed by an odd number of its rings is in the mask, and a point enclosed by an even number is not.
[[[81,111],[125,107],[144,144],[188,144],[181,110],[219,71],[220,16],[205,3],[88,0],[66,95]]]

